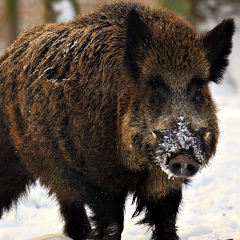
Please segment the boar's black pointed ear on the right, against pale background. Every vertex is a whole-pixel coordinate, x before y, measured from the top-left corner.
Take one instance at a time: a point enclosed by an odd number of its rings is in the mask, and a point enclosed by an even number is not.
[[[228,66],[228,55],[232,50],[232,36],[235,30],[233,19],[224,19],[211,31],[202,36],[210,61],[210,80],[219,83]]]

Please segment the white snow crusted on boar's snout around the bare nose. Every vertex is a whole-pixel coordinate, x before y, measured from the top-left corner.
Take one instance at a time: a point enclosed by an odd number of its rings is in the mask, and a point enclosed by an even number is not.
[[[155,152],[155,163],[168,174],[169,178],[171,178],[173,174],[168,168],[167,159],[182,149],[191,149],[195,160],[199,163],[204,162],[204,154],[201,150],[201,141],[189,130],[188,124],[189,122],[181,116],[178,118],[178,127],[176,129],[160,132],[162,139]]]

